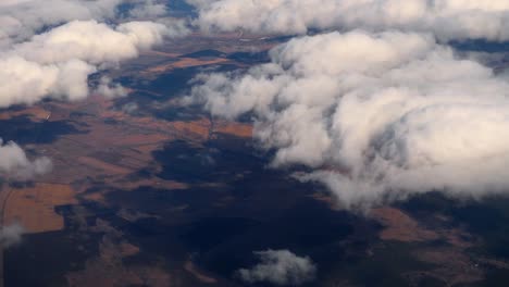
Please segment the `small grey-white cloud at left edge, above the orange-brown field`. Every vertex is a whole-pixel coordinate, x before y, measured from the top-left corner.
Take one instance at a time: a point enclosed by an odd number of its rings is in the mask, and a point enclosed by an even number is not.
[[[0,175],[27,180],[44,175],[51,169],[50,159],[42,157],[30,161],[25,151],[15,142],[3,144],[0,139]]]

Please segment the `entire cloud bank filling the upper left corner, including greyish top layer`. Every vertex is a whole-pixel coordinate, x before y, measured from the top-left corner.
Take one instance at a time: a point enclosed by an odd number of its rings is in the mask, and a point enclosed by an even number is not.
[[[122,9],[127,15],[119,15]],[[90,74],[187,33],[184,22],[159,18],[165,12],[156,0],[1,1],[0,66],[7,68],[0,71],[0,108],[42,98],[85,98],[90,93]],[[137,17],[157,17],[157,22]],[[108,77],[94,91],[125,95]]]

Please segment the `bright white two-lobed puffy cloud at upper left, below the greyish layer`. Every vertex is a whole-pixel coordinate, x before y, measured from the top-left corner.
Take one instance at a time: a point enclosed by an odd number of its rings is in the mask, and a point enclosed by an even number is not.
[[[128,22],[110,27],[73,21],[0,51],[0,107],[34,103],[45,97],[78,100],[89,93],[88,76],[136,58],[171,34],[162,24]],[[111,96],[119,87],[102,85]]]

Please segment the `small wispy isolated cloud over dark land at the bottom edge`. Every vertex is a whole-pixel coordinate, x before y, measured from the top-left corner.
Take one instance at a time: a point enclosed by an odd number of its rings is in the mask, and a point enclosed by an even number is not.
[[[268,282],[281,286],[297,286],[314,279],[316,266],[308,257],[301,258],[288,250],[258,251],[254,254],[261,262],[237,272],[247,283]]]

